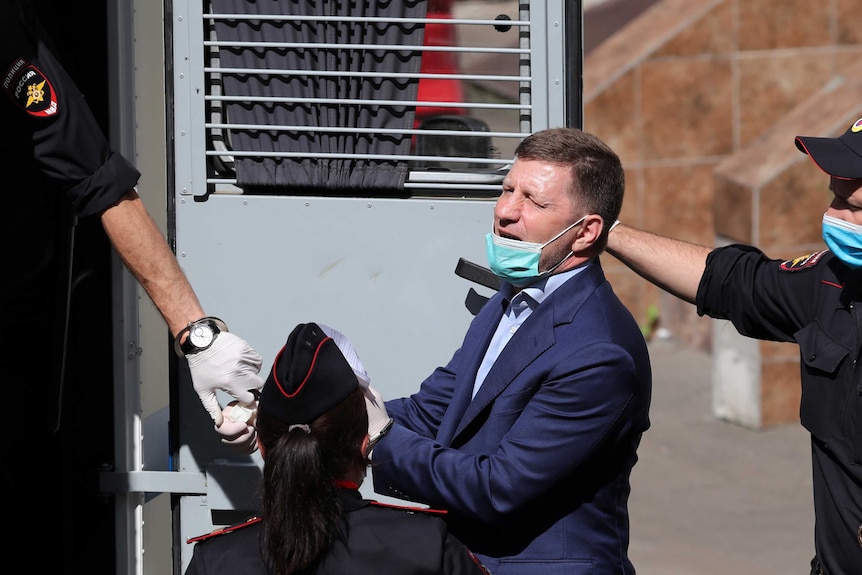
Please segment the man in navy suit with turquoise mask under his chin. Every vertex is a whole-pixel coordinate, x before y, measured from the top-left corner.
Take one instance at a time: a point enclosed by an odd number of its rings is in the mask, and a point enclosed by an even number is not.
[[[375,491],[447,509],[495,575],[633,574],[629,478],[652,376],[599,263],[623,169],[570,128],[515,156],[486,237],[499,293],[416,394],[371,390]]]

